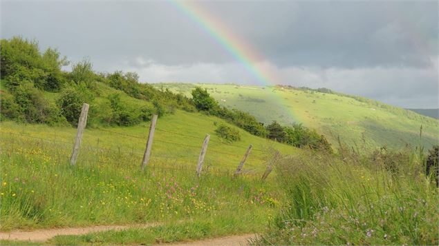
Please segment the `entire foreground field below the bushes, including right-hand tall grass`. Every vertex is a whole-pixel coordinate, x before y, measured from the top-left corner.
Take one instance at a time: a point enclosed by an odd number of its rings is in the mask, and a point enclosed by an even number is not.
[[[165,132],[183,119],[188,123],[178,134]],[[252,232],[259,235],[254,245],[438,243],[438,191],[423,173],[420,152],[370,158],[341,147],[333,156],[245,132],[242,143],[225,145],[212,134],[197,178],[195,145],[212,133],[213,121],[221,120],[187,112],[160,118],[146,172],[140,171],[146,123],[86,129],[76,166],[68,163],[72,127],[1,123],[1,231],[156,223],[55,236],[48,245],[149,245]],[[247,171],[234,177],[250,143]],[[271,148],[283,156],[261,181]]]

